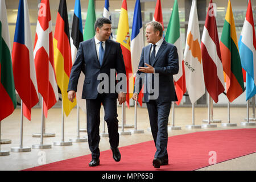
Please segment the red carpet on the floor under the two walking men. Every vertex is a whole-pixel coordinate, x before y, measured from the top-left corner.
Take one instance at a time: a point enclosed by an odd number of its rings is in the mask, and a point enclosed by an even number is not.
[[[138,135],[139,137],[139,135]],[[155,154],[153,141],[119,148],[122,159],[114,162],[112,151],[101,151],[100,166],[89,167],[91,155],[61,160],[28,171],[170,171],[195,170],[210,166],[210,151],[215,151],[217,163],[256,152],[256,129],[201,131],[168,138],[169,165],[152,167]]]

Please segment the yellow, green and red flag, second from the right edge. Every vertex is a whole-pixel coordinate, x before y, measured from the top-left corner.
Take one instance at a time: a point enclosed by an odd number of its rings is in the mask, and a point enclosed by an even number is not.
[[[238,52],[236,26],[230,1],[228,2],[222,30],[220,49],[223,71],[226,75],[226,96],[232,102],[243,93],[245,88],[243,86],[241,59]]]

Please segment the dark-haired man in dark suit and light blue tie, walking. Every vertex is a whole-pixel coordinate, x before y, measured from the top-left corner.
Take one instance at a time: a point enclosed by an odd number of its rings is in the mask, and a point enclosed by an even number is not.
[[[109,143],[113,152],[113,158],[116,162],[121,160],[121,154],[118,150],[117,98],[119,104],[125,102],[126,88],[122,89],[125,90],[124,92],[117,93],[113,87],[117,84],[115,73],[126,74],[126,71],[120,44],[109,40],[112,32],[111,23],[107,18],[98,18],[96,20],[96,35],[94,38],[80,43],[68,84],[68,98],[73,102],[80,73],[81,71],[84,72],[85,80],[82,98],[86,99],[88,143],[92,152],[92,161],[89,163],[89,166],[98,166],[100,164],[98,144],[100,142],[101,104],[104,106],[104,120],[108,125]],[[103,81],[107,82],[103,86],[100,84],[102,77],[106,79]],[[111,84],[113,82],[114,85]],[[100,89],[101,92],[99,91]],[[103,93],[102,90],[104,90]]]

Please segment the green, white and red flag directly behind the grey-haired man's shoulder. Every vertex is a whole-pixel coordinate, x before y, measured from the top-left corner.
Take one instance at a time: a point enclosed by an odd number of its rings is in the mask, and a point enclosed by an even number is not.
[[[186,81],[185,81],[185,68],[183,60],[183,48],[181,44],[180,37],[180,18],[179,18],[179,7],[177,0],[174,2],[174,7],[172,9],[171,18],[166,30],[166,42],[174,44],[177,48],[179,55],[179,72],[177,75],[174,75],[174,85],[178,101],[177,105],[180,104],[180,101],[183,98],[184,93],[186,92]]]

